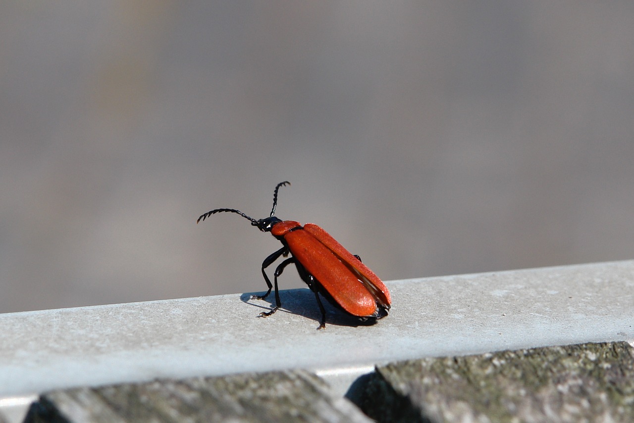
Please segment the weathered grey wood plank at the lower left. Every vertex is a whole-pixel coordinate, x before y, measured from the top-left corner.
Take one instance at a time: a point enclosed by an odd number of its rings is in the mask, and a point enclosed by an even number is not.
[[[43,394],[26,422],[370,422],[303,370],[156,380]]]

